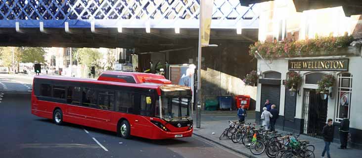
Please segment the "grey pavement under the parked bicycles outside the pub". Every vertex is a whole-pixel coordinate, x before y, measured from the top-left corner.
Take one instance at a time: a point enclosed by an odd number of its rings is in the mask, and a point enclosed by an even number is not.
[[[216,144],[219,144],[229,150],[237,152],[247,158],[268,158],[268,156],[263,153],[262,155],[255,156],[249,149],[241,143],[233,143],[230,139],[224,137],[222,140],[219,140],[221,133],[224,129],[228,127],[228,121],[237,121],[236,113],[234,114],[201,114],[201,128],[194,128],[193,134],[200,136],[206,140],[212,141]],[[255,113],[248,112],[247,123],[255,123]],[[194,125],[196,121],[194,120]],[[290,133],[276,129],[278,133]],[[315,146],[315,158],[320,158],[321,153],[324,148],[324,141],[322,139],[310,137],[307,135],[301,134],[298,138],[299,140],[309,140],[311,145]],[[330,145],[330,154],[331,158],[361,158],[362,150],[348,148],[346,150],[338,149],[340,144],[338,142],[333,142]],[[325,158],[326,155],[325,155]]]

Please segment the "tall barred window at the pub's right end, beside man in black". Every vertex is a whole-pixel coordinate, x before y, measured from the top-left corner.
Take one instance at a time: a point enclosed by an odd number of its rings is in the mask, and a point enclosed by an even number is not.
[[[349,118],[351,98],[352,98],[352,74],[341,73],[338,75],[338,101],[336,122],[343,120],[343,115],[346,114]]]

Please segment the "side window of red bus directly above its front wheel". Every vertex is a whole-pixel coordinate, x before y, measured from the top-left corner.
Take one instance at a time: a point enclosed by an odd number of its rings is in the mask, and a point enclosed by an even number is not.
[[[134,113],[134,94],[119,91],[116,98],[116,111]]]

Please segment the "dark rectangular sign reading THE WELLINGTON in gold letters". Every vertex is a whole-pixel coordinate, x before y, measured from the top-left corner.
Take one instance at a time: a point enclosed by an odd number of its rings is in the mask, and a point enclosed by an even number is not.
[[[289,70],[348,71],[349,59],[290,60]]]

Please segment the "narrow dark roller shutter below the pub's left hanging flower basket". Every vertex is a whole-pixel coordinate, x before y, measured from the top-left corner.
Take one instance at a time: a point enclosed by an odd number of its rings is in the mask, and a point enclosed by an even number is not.
[[[294,122],[295,106],[297,103],[297,94],[290,96],[290,92],[285,90],[285,103],[284,103],[284,120]]]

